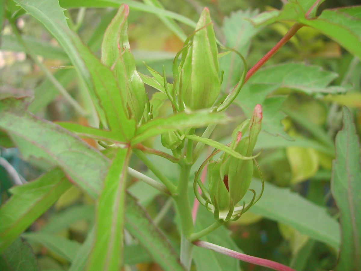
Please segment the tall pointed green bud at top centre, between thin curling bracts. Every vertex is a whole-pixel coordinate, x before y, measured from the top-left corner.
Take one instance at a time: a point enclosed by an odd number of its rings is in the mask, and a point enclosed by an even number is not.
[[[182,54],[179,92],[186,108],[196,110],[213,105],[221,91],[218,70],[216,36],[209,10],[204,8],[191,46]]]

